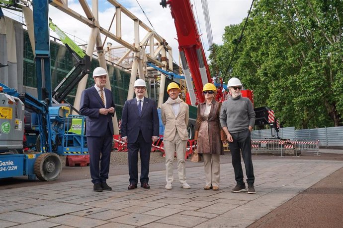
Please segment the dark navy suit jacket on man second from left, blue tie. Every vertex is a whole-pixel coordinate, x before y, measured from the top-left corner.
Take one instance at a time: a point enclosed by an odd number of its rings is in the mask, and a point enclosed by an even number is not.
[[[136,98],[128,100],[124,104],[121,116],[120,134],[127,137],[128,143],[135,143],[139,130],[142,131],[144,140],[152,143],[152,136],[159,136],[159,115],[155,100],[144,98],[142,113],[139,115]]]

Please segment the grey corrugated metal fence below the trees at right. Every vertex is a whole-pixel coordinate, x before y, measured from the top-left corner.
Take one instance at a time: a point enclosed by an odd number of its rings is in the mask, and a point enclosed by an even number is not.
[[[295,127],[280,128],[279,138],[290,140],[319,140],[319,146],[343,148],[343,126],[295,130]],[[252,139],[273,138],[270,129],[254,130]]]

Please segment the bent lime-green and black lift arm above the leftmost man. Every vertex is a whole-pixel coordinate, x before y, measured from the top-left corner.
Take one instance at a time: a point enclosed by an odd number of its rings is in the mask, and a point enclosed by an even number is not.
[[[68,51],[72,53],[76,59],[76,64],[71,71],[63,78],[63,80],[52,91],[52,97],[58,103],[61,103],[67,95],[76,87],[80,80],[90,72],[90,57],[59,27],[57,27],[51,19],[49,19],[50,28],[59,36],[62,43]]]

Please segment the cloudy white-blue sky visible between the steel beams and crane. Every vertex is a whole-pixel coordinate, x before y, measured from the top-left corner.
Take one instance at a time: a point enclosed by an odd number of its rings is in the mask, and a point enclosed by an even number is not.
[[[87,1],[91,7],[91,0]],[[169,7],[162,8],[160,1],[161,0],[138,0],[155,31],[165,38],[172,47],[173,58],[176,63],[178,63],[178,45],[177,40],[175,40],[176,30],[173,19],[171,18],[171,10]],[[137,0],[118,0],[118,2],[136,15],[145,24],[150,26],[150,23],[143,14],[142,9],[139,7]],[[203,34],[202,41],[206,51],[208,49],[208,41],[201,0],[190,0],[190,2],[194,5],[193,11],[196,20],[198,20],[197,23],[200,30],[199,33]],[[243,18],[245,18],[248,14],[252,0],[207,0],[207,2],[212,27],[213,42],[216,44],[222,44],[222,34],[224,33],[225,26],[242,22]],[[68,3],[70,8],[82,15],[85,15],[78,0],[68,0]],[[99,0],[99,11],[100,25],[103,28],[108,29],[115,9],[108,1]],[[13,14],[8,13],[6,9],[3,10],[3,12],[5,15],[13,17]],[[87,43],[90,32],[88,26],[52,6],[49,7],[49,16],[59,28],[65,31],[78,44]],[[133,23],[126,22],[124,16],[122,16],[122,22],[123,39],[129,43],[133,43]],[[115,33],[113,29],[110,31]],[[142,33],[141,39],[144,36],[145,33]]]

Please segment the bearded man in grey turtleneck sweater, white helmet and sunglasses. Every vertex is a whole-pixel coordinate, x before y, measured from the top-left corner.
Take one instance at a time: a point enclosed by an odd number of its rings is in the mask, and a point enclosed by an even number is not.
[[[255,125],[253,104],[248,98],[242,97],[242,83],[238,78],[231,78],[228,82],[228,88],[230,97],[222,104],[220,124],[229,141],[232,166],[235,170],[235,179],[237,182],[231,192],[247,191],[243,179],[241,149],[247,174],[248,193],[256,194],[250,138],[250,133]]]

